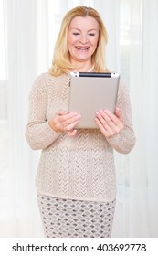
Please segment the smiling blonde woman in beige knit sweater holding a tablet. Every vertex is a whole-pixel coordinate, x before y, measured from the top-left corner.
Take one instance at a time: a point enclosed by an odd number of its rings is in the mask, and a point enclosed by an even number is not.
[[[79,6],[60,27],[52,67],[30,92],[26,139],[42,149],[37,198],[46,237],[111,237],[116,198],[113,149],[135,144],[131,106],[120,83],[115,113],[96,112],[98,129],[75,129],[68,112],[69,71],[106,72],[107,31],[99,13]]]

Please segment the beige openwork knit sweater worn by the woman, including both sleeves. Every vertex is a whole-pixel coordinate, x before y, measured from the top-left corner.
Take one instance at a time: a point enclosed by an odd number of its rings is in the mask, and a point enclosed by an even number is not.
[[[68,74],[37,77],[29,95],[26,140],[42,149],[37,193],[58,198],[111,201],[116,197],[113,149],[127,154],[135,144],[129,97],[120,83],[117,105],[125,128],[106,139],[99,129],[79,129],[74,137],[56,133],[49,125],[58,109],[68,110]]]

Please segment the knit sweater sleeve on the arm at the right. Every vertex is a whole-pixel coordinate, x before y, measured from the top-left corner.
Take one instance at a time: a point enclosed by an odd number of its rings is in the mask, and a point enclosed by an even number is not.
[[[121,131],[121,133],[113,135],[107,138],[107,140],[109,144],[111,144],[111,147],[113,147],[117,152],[128,154],[132,151],[136,140],[132,128],[132,110],[130,97],[122,80],[119,85],[117,106],[120,108],[121,114],[123,116],[124,129]]]

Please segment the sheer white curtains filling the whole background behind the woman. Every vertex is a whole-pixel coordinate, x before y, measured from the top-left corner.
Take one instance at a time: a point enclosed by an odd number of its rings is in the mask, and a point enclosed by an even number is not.
[[[108,67],[121,72],[132,101],[137,143],[130,155],[115,154],[118,194],[112,236],[157,237],[156,0],[4,1],[8,150],[3,176],[0,170],[0,237],[43,236],[35,189],[39,153],[29,149],[24,135],[28,93],[50,66],[62,17],[77,5],[100,12],[109,31]]]

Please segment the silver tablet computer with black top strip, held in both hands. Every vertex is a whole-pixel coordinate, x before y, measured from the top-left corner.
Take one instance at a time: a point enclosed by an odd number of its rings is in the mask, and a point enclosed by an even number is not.
[[[68,112],[79,112],[76,128],[97,129],[96,112],[114,112],[120,75],[117,73],[71,72],[69,80]]]

